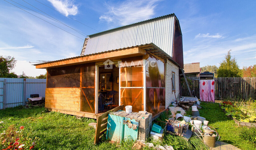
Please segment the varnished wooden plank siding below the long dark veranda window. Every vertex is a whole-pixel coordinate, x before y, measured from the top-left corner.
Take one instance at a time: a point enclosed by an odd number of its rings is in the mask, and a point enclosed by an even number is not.
[[[80,88],[46,88],[45,107],[79,112],[80,93]]]

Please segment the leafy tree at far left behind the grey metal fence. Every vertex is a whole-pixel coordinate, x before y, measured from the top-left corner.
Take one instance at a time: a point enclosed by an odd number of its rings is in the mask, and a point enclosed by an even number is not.
[[[0,78],[6,77],[10,70],[15,67],[16,60],[11,56],[1,56],[0,55]]]

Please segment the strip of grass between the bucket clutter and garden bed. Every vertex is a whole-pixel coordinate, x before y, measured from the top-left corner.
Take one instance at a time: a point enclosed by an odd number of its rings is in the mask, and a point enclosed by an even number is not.
[[[232,144],[240,149],[255,149],[255,145],[240,138],[243,127],[238,127],[233,120],[226,117],[219,107],[219,103],[201,103],[200,116],[209,121],[209,126],[214,127],[221,136],[220,141]],[[191,112],[188,111],[187,114]]]

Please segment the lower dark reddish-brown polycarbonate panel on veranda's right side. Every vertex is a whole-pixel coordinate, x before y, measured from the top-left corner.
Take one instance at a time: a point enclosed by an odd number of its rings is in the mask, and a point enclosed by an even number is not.
[[[147,88],[146,89],[146,111],[155,114],[165,109],[165,89]]]

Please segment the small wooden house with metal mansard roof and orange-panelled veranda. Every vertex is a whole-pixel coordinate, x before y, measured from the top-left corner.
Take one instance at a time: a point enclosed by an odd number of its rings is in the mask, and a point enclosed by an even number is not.
[[[179,97],[182,33],[174,14],[89,35],[81,56],[35,64],[47,69],[49,111],[97,118],[99,93],[114,105],[154,115]],[[113,100],[112,98],[112,100]]]

